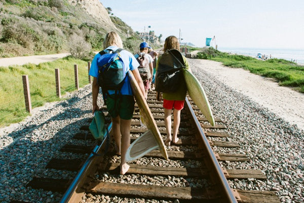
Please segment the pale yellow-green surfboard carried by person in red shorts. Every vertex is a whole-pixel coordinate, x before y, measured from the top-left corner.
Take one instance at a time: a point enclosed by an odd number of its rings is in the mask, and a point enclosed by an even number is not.
[[[187,91],[189,96],[192,98],[196,106],[204,114],[208,122],[214,126],[215,121],[211,111],[211,107],[206,96],[205,90],[202,87],[198,79],[188,70],[183,69],[183,76],[186,82]]]

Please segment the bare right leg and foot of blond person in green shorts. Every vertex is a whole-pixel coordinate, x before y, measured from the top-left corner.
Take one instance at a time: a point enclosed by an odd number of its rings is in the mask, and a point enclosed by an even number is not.
[[[122,133],[122,155],[121,155],[121,175],[124,175],[129,170],[130,166],[126,161],[126,152],[130,146],[130,128],[131,128],[131,119],[125,120],[121,119],[121,133]]]

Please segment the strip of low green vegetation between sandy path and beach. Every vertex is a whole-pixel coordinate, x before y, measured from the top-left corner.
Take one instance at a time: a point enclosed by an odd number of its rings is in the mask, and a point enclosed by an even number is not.
[[[292,87],[304,93],[304,66],[292,61],[277,58],[260,60],[250,56],[220,52],[212,47],[198,52],[197,58],[219,61],[225,66],[242,68],[253,74],[274,78],[279,85]]]

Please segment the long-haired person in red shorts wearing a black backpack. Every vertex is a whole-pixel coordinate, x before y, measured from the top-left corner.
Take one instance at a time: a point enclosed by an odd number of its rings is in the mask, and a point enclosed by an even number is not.
[[[171,53],[177,53],[177,57],[172,56]],[[166,56],[166,57],[165,57]],[[160,83],[158,84],[158,75],[160,73],[160,69],[162,64],[176,64],[176,62],[173,61],[165,61],[165,60],[171,60],[171,58],[175,58],[175,60],[178,60],[178,63],[181,64],[182,68],[190,70],[188,61],[186,57],[180,54],[179,52],[179,42],[178,39],[175,36],[169,36],[165,40],[164,44],[164,54],[160,55],[157,60],[156,65],[156,91],[157,91],[157,100],[161,101],[163,97],[163,107],[164,107],[164,113],[165,113],[165,126],[166,126],[166,133],[167,133],[167,139],[165,140],[165,145],[170,146],[170,143],[172,141],[173,144],[176,144],[178,141],[177,133],[178,128],[180,124],[180,111],[184,107],[184,100],[187,93],[187,87],[185,82],[183,81],[183,76],[181,75],[181,78],[179,78],[178,83],[174,85],[165,86],[165,89],[170,89],[171,86],[175,86],[176,90],[174,92],[167,92],[166,90],[163,91],[163,95],[158,91],[160,87]],[[163,59],[162,59],[163,58]],[[166,58],[166,59],[165,59]],[[174,66],[174,65],[173,65]],[[164,67],[167,69],[168,65],[164,65]],[[174,67],[172,67],[172,70]],[[182,73],[182,72],[181,72]],[[170,74],[170,73],[169,73]],[[173,91],[173,90],[172,90]],[[171,136],[171,114],[173,109],[173,136]]]

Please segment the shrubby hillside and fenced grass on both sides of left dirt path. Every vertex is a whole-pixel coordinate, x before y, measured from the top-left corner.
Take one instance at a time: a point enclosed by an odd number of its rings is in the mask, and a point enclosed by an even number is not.
[[[76,3],[71,5],[71,2]],[[57,68],[62,95],[75,90],[74,64],[78,64],[79,87],[88,84],[87,62],[93,59],[94,52],[103,48],[103,39],[109,30],[119,33],[124,49],[132,53],[139,51],[142,40],[138,33],[113,16],[110,8],[105,9],[104,15],[92,17],[83,3],[0,0],[0,57],[71,54],[39,65],[0,66],[0,127],[20,122],[29,115],[25,110],[22,75],[29,78],[32,108],[40,107],[62,99],[56,96],[54,70]],[[102,12],[101,8],[97,9]]]

